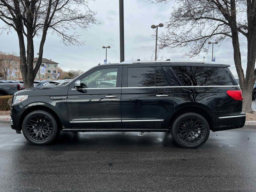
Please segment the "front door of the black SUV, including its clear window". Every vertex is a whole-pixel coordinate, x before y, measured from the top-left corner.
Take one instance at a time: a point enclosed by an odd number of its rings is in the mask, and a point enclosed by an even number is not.
[[[96,68],[80,78],[82,90],[68,90],[72,128],[121,128],[122,66]]]

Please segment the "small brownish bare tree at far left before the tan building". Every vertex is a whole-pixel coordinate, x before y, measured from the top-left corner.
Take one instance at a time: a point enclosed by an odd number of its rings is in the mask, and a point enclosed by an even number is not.
[[[4,79],[7,79],[7,74],[11,73],[11,70],[18,67],[17,54],[15,52],[6,53],[0,51],[0,71],[4,73]],[[11,79],[11,76],[10,76]]]

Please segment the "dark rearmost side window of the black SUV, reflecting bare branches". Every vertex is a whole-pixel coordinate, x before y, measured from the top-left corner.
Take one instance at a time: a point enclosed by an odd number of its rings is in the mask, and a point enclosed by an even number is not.
[[[184,86],[233,85],[222,67],[173,67]]]

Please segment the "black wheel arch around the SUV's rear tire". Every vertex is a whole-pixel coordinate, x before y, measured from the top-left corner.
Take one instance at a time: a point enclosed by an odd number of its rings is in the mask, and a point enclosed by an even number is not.
[[[192,112],[192,113],[197,113],[197,114],[200,114],[201,116],[203,116],[207,120],[207,122],[209,123],[210,130],[212,130],[213,127],[214,127],[214,122],[213,122],[213,119],[210,116],[208,111],[209,110],[207,109],[207,107],[203,106],[202,104],[201,105],[196,105],[196,106],[194,106],[194,105],[180,106],[178,108],[178,110],[176,110],[174,112],[174,114],[172,115],[172,117],[170,119],[170,122],[169,122],[169,127],[172,128],[172,124],[175,121],[175,119],[178,118],[178,116],[180,116],[184,113]]]

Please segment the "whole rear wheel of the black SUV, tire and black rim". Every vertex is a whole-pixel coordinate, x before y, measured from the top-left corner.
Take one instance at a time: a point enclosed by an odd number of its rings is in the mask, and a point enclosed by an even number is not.
[[[176,118],[171,132],[179,146],[198,148],[208,140],[210,127],[203,116],[197,113],[185,113]]]

